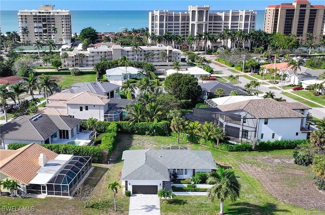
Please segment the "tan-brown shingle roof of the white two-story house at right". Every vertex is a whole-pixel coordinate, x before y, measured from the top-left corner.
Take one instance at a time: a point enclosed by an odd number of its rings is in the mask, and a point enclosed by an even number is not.
[[[304,115],[288,108],[288,106],[282,104],[282,102],[276,101],[272,98],[240,101],[231,104],[218,105],[217,108],[223,112],[242,109],[258,119],[305,117]]]

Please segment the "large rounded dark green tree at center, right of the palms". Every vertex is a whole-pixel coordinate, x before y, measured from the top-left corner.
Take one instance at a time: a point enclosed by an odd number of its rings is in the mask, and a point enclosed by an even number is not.
[[[165,90],[180,100],[196,100],[202,94],[198,80],[188,74],[174,73],[165,80]]]

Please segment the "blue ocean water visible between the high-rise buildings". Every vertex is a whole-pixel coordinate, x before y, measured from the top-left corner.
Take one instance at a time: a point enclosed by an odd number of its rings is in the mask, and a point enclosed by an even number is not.
[[[150,11],[71,11],[72,33],[80,33],[85,27],[93,27],[98,32],[119,32],[120,27],[148,27]],[[256,11],[255,29],[263,29],[265,11]],[[1,11],[1,32],[19,32],[18,11]]]

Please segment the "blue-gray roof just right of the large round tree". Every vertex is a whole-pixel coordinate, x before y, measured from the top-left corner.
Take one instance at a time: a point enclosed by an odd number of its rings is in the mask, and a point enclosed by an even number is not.
[[[207,91],[210,93],[214,93],[216,89],[221,88],[224,90],[225,95],[230,95],[232,90],[238,91],[240,95],[247,95],[245,89],[228,83],[221,83],[218,81],[214,81],[214,82],[207,82],[199,85],[201,86],[202,91]]]

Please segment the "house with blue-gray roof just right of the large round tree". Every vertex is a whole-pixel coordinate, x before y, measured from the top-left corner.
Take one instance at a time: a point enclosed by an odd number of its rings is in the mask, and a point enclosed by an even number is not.
[[[224,90],[224,96],[229,96],[231,91],[236,90],[239,95],[247,95],[248,93],[242,87],[235,86],[229,83],[221,83],[218,81],[207,82],[199,84],[202,88],[202,95],[204,99],[208,99],[209,97],[215,97],[214,92],[221,88]]]

